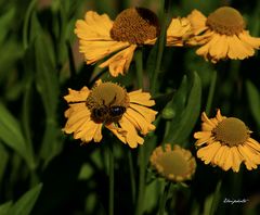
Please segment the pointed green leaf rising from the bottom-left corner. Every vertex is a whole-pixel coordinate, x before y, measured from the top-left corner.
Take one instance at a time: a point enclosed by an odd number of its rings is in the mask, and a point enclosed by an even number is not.
[[[42,184],[35,186],[14,203],[9,215],[29,215],[42,188]]]

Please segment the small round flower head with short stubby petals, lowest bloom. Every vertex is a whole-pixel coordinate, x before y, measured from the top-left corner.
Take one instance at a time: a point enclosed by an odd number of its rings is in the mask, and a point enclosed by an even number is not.
[[[151,165],[164,178],[173,182],[190,180],[196,169],[196,161],[188,150],[178,144],[167,143],[165,147],[157,147],[151,157]]]

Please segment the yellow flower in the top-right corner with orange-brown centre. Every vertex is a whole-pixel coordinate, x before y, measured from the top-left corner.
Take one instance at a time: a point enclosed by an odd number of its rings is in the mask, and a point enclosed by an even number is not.
[[[219,8],[208,17],[194,10],[187,18],[195,35],[187,43],[200,45],[196,53],[207,61],[243,60],[260,47],[260,38],[249,35],[243,16],[233,8]]]

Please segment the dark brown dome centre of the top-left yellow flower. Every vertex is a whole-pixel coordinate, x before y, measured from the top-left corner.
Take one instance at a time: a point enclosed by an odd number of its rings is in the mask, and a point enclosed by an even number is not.
[[[123,10],[115,20],[110,37],[117,41],[142,45],[159,35],[159,22],[148,9],[131,8]]]

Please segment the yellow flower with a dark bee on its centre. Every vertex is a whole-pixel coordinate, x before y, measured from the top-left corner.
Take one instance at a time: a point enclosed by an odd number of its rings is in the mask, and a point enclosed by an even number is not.
[[[140,134],[145,136],[155,129],[152,122],[157,112],[148,108],[155,102],[148,92],[141,89],[127,92],[117,84],[99,80],[92,89],[69,89],[64,99],[69,105],[65,112],[64,131],[74,132],[74,138],[83,143],[100,142],[104,126],[123,143],[136,148],[144,142]]]

